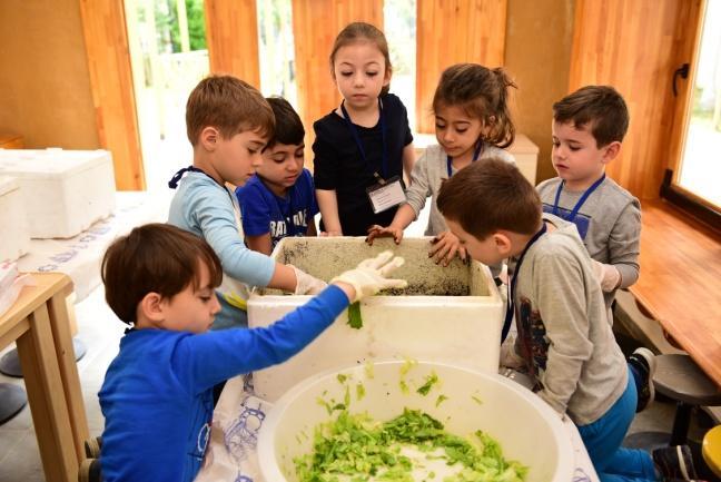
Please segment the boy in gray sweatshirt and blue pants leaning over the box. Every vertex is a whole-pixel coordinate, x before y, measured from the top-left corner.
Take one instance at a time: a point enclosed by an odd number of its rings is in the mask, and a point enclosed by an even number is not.
[[[537,395],[579,427],[601,480],[692,473],[688,447],[661,449],[652,459],[621,446],[636,391],[576,227],[542,214],[533,186],[501,159],[475,163],[444,183],[437,206],[472,258],[515,260],[506,319],[515,315],[516,354]]]

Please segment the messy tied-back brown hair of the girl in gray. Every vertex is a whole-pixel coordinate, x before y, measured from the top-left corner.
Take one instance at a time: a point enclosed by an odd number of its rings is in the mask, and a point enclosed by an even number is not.
[[[443,106],[461,106],[468,116],[491,127],[483,141],[508,147],[515,138],[508,109],[511,87],[517,88],[501,67],[488,69],[477,63],[456,63],[441,75],[433,95],[433,114]]]

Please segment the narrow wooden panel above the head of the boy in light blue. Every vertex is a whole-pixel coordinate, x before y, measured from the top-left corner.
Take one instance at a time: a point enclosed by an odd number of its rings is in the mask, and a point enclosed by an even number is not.
[[[205,0],[210,72],[260,88],[256,0]]]

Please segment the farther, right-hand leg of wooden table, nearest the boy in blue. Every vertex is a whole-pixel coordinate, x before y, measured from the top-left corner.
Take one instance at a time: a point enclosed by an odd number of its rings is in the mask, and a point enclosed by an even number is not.
[[[88,419],[82,400],[82,390],[80,388],[80,377],[78,375],[78,364],[76,363],[75,350],[72,348],[72,335],[70,324],[68,323],[68,308],[66,304],[66,294],[58,293],[48,301],[48,311],[50,314],[50,326],[52,328],[52,340],[55,341],[56,354],[58,355],[58,366],[65,387],[65,396],[68,403],[70,414],[70,425],[76,444],[76,454],[78,463],[85,459],[83,442],[90,437],[88,429]]]

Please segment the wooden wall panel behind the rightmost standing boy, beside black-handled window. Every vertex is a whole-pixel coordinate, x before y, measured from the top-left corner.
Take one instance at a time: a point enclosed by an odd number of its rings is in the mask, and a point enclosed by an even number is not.
[[[678,49],[694,2],[579,0],[569,90],[612,85],[625,98],[631,126],[608,174],[635,196],[659,197],[675,110],[671,90]]]

